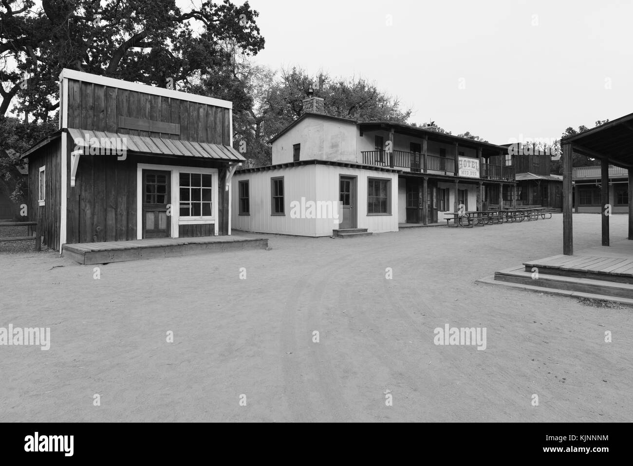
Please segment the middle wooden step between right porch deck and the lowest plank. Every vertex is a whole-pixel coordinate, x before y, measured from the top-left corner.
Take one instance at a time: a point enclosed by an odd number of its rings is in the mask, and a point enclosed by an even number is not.
[[[612,282],[604,279],[595,280],[584,277],[553,275],[546,273],[544,268],[539,268],[537,279],[532,279],[532,272],[524,270],[523,267],[508,268],[495,272],[494,279],[499,282],[633,299],[633,284]]]

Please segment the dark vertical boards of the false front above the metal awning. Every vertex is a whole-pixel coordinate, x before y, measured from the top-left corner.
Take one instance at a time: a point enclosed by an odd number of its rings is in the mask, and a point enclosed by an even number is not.
[[[119,116],[180,125],[180,134],[119,127]],[[68,127],[232,144],[228,108],[68,79]]]

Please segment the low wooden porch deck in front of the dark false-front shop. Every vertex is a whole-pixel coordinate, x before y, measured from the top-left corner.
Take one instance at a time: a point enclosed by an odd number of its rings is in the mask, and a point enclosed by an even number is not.
[[[266,249],[268,239],[246,236],[155,238],[64,244],[62,255],[83,265],[177,257],[235,249]]]

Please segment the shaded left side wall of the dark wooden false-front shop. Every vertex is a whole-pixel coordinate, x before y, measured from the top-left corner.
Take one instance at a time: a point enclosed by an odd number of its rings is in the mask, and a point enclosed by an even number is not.
[[[28,156],[28,204],[29,222],[40,220],[43,244],[49,248],[60,248],[60,204],[61,204],[61,151],[59,142],[46,144]],[[46,199],[39,205],[39,169],[46,166]],[[27,220],[26,218],[24,219]],[[34,232],[30,227],[29,234]]]

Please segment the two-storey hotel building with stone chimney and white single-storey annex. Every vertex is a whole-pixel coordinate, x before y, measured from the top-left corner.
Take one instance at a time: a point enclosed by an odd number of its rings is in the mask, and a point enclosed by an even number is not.
[[[516,202],[505,147],[403,123],[329,116],[320,98],[303,103],[303,115],[272,139],[272,165],[235,173],[236,229],[348,236],[442,223],[442,213],[460,206]]]

